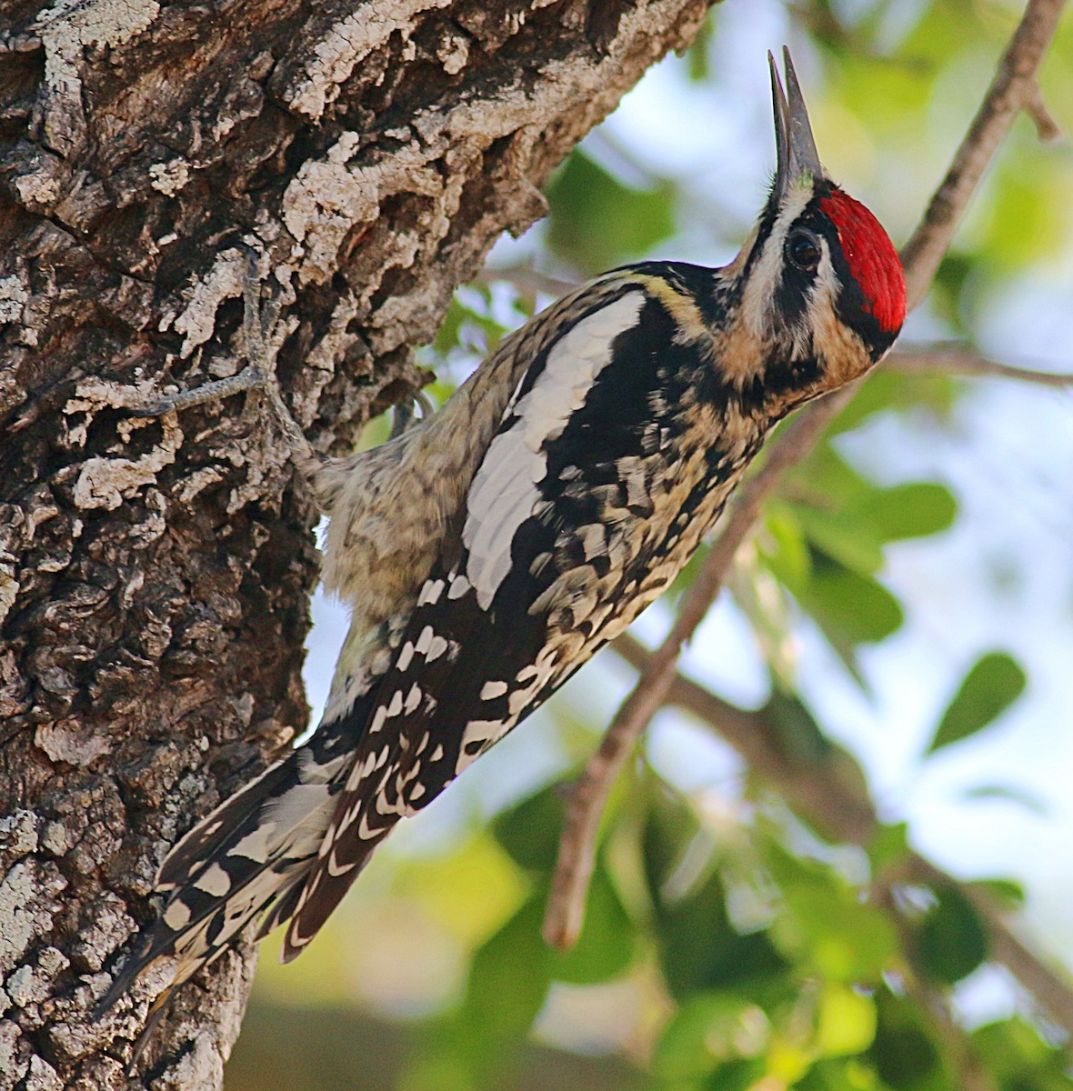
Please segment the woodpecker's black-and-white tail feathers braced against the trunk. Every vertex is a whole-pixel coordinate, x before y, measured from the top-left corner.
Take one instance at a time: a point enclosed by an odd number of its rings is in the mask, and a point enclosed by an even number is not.
[[[325,753],[324,742],[314,736],[271,766],[172,848],[156,877],[168,900],[102,998],[98,1015],[152,963],[172,957],[175,981],[152,1010],[162,1008],[259,914],[265,915],[258,938],[290,915],[346,780],[348,755],[343,747],[338,756]]]

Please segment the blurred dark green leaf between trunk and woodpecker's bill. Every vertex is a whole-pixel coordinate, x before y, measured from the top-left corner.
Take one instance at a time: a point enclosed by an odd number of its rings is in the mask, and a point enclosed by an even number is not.
[[[675,230],[673,187],[636,190],[574,149],[548,187],[548,243],[583,274],[640,257]]]

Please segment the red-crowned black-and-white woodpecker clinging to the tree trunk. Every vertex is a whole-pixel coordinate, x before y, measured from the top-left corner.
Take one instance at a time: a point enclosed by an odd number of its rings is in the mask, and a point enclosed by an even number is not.
[[[298,955],[401,818],[670,585],[771,429],[890,349],[897,253],[821,166],[789,53],[786,92],[768,61],[777,168],[729,265],[596,277],[439,413],[348,458],[314,455],[273,395],[350,630],[315,734],[164,861],[163,910],[102,1010],[170,957],[159,1009],[258,919]]]

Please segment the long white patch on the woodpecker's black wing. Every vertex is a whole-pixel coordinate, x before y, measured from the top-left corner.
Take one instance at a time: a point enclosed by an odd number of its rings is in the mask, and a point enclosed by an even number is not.
[[[466,502],[462,541],[469,551],[466,575],[482,610],[491,606],[510,572],[511,542],[539,502],[547,471],[541,449],[581,408],[599,373],[611,362],[611,341],[631,326],[644,304],[631,291],[577,323],[548,353],[533,388],[508,408],[518,420],[492,440]]]

